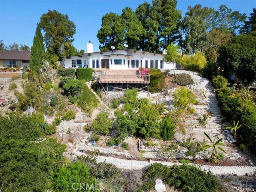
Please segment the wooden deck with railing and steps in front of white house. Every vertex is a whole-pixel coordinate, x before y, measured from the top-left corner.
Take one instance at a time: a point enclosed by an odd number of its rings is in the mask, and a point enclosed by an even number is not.
[[[150,75],[140,75],[137,70],[106,70],[106,74],[94,77],[100,83],[149,84]]]

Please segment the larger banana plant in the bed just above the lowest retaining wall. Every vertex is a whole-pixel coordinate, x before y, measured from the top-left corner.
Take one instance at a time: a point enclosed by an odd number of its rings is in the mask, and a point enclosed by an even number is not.
[[[221,146],[224,146],[224,143],[222,143],[222,140],[223,138],[220,138],[219,140],[216,140],[216,136],[214,136],[214,140],[212,140],[212,138],[210,138],[210,136],[204,132],[204,135],[210,140],[211,144],[210,145],[204,145],[203,146],[203,151],[207,150],[208,148],[212,148],[212,154],[210,156],[210,161],[217,161],[217,160],[221,160],[224,158],[224,155],[223,154],[218,154],[217,152],[217,149],[221,150],[222,152],[226,153],[226,151],[220,147],[219,145]],[[215,161],[215,162],[216,162]]]

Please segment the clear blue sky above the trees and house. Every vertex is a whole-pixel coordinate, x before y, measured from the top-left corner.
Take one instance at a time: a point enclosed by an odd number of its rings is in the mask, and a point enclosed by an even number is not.
[[[152,0],[146,1],[152,3]],[[31,47],[40,17],[49,9],[55,9],[68,14],[69,19],[75,23],[73,44],[76,48],[86,50],[86,44],[91,40],[94,51],[98,51],[96,35],[101,27],[102,16],[109,12],[121,14],[126,6],[135,11],[143,2],[145,0],[0,0],[0,40],[6,46],[15,42]],[[256,7],[256,0],[178,0],[177,9],[184,16],[188,6],[196,4],[216,10],[221,4],[225,4],[228,8],[249,16]]]

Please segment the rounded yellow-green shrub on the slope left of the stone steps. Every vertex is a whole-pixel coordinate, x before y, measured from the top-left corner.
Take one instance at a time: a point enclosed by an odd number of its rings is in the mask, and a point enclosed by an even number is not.
[[[188,108],[189,104],[196,103],[196,95],[185,87],[176,88],[173,97],[174,106],[177,108]]]

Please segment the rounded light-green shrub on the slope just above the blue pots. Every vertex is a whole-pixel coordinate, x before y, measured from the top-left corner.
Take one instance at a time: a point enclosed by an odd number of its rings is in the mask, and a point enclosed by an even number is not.
[[[107,113],[100,112],[96,119],[92,121],[91,126],[96,133],[107,135],[113,126],[113,122],[108,118]]]

